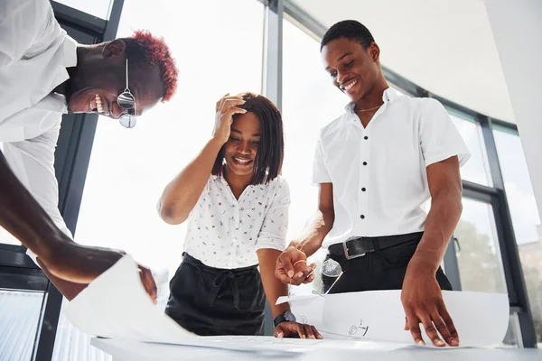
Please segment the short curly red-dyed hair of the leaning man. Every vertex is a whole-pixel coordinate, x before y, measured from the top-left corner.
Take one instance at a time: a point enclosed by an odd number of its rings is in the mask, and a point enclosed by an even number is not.
[[[162,37],[154,37],[145,30],[137,30],[129,38],[122,38],[130,60],[144,63],[149,66],[159,66],[164,81],[164,97],[162,102],[170,100],[177,90],[177,76],[179,70],[175,60]]]

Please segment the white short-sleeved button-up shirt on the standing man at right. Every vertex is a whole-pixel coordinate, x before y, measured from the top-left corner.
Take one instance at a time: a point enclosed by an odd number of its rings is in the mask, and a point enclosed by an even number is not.
[[[390,236],[425,229],[426,167],[470,157],[444,106],[431,98],[400,96],[388,88],[366,128],[354,112],[323,127],[313,183],[332,182],[335,220],[322,246],[350,236]]]

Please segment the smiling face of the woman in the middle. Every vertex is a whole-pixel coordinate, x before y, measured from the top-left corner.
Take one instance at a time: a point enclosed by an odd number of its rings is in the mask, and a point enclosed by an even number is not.
[[[248,112],[235,116],[224,152],[228,177],[238,176],[250,180],[259,141],[260,120],[257,115]]]

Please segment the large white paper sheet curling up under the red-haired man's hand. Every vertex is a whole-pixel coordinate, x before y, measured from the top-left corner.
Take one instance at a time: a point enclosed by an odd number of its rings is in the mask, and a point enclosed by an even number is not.
[[[302,300],[303,301],[303,300]],[[323,299],[322,299],[323,301]],[[322,313],[323,302],[312,302],[313,314]],[[286,355],[305,352],[314,347],[389,350],[402,345],[334,339],[294,339],[273,337],[199,337],[182,329],[158,310],[141,284],[137,266],[125,255],[107,272],[79,293],[63,309],[70,322],[92,336],[120,341],[224,348],[250,352],[272,352]],[[309,314],[309,318],[313,316]],[[277,354],[278,353],[278,354]]]

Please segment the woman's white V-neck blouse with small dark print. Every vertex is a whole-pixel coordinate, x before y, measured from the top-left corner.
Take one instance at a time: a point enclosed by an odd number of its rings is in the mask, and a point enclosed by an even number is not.
[[[224,178],[211,175],[190,214],[184,252],[215,268],[258,264],[258,249],[285,249],[289,206],[280,176],[249,185],[236,199]]]

